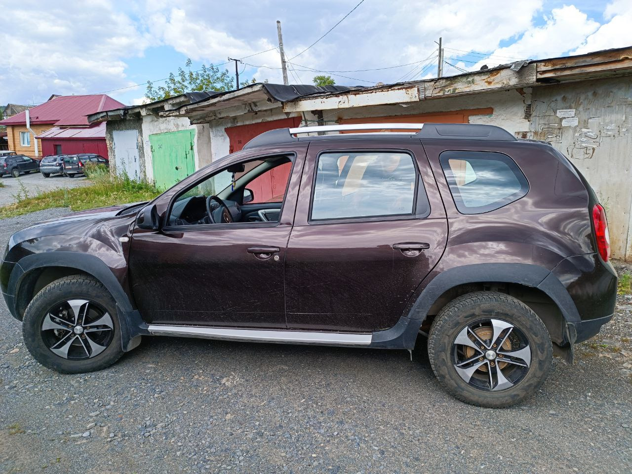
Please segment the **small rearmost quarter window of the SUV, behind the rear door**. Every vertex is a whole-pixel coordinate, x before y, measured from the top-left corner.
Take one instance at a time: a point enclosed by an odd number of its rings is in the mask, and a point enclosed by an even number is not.
[[[461,214],[499,209],[529,190],[518,165],[502,153],[447,151],[439,161]]]

